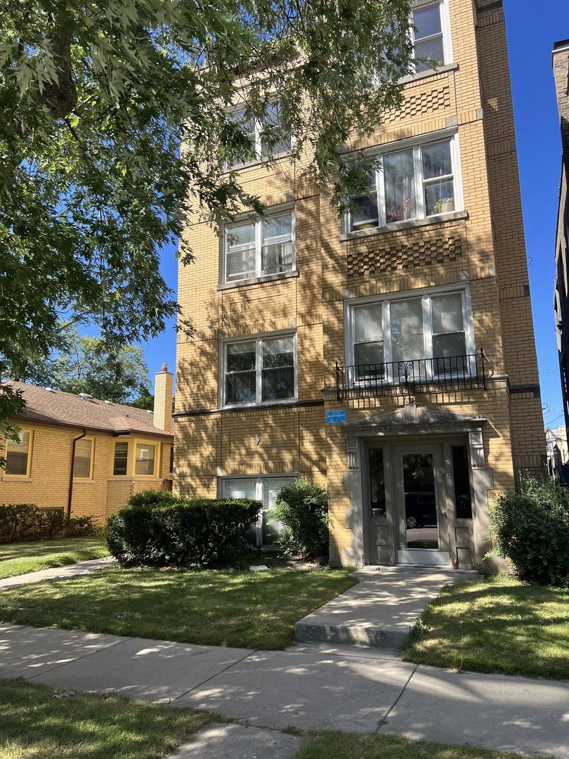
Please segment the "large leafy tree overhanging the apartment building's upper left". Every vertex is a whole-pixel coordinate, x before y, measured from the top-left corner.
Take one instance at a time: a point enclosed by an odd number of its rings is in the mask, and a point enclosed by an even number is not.
[[[162,247],[194,214],[262,211],[228,165],[278,93],[297,174],[341,205],[338,162],[398,106],[407,0],[6,0],[0,14],[0,358],[25,368],[59,323],[94,323],[110,354],[178,314]],[[244,118],[231,108],[244,106]],[[183,149],[182,149],[183,146]],[[270,157],[266,157],[270,161]],[[359,178],[358,178],[359,176]],[[4,417],[0,411],[0,418]]]

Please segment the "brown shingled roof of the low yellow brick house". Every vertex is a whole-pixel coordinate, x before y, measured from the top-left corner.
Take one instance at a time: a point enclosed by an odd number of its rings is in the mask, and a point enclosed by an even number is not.
[[[154,426],[152,411],[101,401],[98,398],[81,398],[72,392],[27,385],[20,382],[2,383],[22,391],[26,408],[25,422],[63,424],[69,427],[86,427],[110,433],[143,433],[171,439],[172,433]]]

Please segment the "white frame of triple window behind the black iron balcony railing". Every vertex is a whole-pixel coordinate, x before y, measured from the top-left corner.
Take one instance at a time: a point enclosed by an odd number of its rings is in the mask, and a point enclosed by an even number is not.
[[[429,359],[433,358],[432,355],[432,312],[431,312],[431,298],[437,295],[443,294],[461,294],[462,298],[462,317],[464,324],[464,344],[465,355],[473,356],[476,354],[476,345],[474,342],[474,325],[473,325],[473,312],[472,312],[472,300],[470,297],[470,288],[468,285],[443,285],[437,288],[428,288],[421,290],[410,290],[404,292],[388,293],[380,297],[368,297],[368,298],[354,298],[351,301],[344,302],[344,324],[346,333],[346,365],[355,366],[355,314],[356,310],[360,306],[368,305],[381,305],[382,307],[382,342],[383,342],[383,362],[385,364],[385,379],[386,382],[392,381],[393,377],[390,376],[389,367],[393,363],[393,356],[391,353],[391,304],[398,301],[407,301],[410,298],[421,298],[423,307],[423,358],[426,359],[426,373],[427,379],[436,379],[436,376],[432,376],[432,367],[429,363]],[[423,359],[420,359],[422,361]],[[403,358],[401,361],[406,361]],[[413,359],[409,359],[413,361]],[[470,361],[469,369],[464,376],[474,376],[476,374],[476,366],[473,361]],[[462,376],[462,374],[461,374]],[[362,382],[364,380],[362,379]],[[354,384],[359,384],[355,378]]]

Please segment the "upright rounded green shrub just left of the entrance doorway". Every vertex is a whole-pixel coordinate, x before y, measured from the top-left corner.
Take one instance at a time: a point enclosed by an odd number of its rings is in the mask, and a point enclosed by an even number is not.
[[[328,554],[328,495],[315,482],[293,480],[281,487],[269,518],[282,524],[276,542],[287,556],[314,559]]]

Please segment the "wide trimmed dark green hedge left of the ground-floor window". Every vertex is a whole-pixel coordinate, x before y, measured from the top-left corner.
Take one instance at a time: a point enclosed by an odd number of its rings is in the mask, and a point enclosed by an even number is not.
[[[133,503],[134,501],[134,503]],[[261,504],[250,499],[161,499],[137,493],[107,523],[108,550],[123,566],[204,568],[243,555]]]

